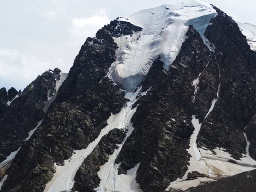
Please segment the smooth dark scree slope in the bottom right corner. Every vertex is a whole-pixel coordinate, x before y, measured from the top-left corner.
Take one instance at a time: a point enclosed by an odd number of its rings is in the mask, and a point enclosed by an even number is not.
[[[255,189],[256,170],[253,170],[188,189],[186,192],[254,192]]]

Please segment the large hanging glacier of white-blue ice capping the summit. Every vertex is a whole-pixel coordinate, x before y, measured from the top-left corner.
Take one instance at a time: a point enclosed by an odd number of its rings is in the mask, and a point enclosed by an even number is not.
[[[143,28],[141,32],[114,38],[119,49],[117,60],[112,64],[109,78],[123,89],[134,90],[144,79],[152,62],[161,56],[168,69],[185,41],[189,24],[199,31],[209,49],[204,32],[209,20],[217,13],[208,4],[199,0],[189,3],[164,4],[120,17]],[[127,20],[128,19],[128,20]]]

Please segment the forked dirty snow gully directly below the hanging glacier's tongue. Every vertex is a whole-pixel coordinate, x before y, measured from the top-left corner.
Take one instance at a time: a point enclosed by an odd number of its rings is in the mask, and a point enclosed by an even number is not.
[[[47,183],[44,192],[57,192],[72,189],[75,183],[76,172],[83,163],[84,159],[93,151],[93,149],[99,143],[101,138],[104,135],[108,134],[108,132],[111,131],[113,128],[125,129],[126,127],[128,127],[129,131],[127,133],[126,138],[131,134],[131,132],[133,131],[131,125],[131,117],[136,111],[136,108],[131,110],[131,107],[137,101],[138,98],[136,99],[136,96],[140,93],[141,89],[142,87],[138,88],[135,93],[126,93],[125,97],[130,99],[130,101],[126,103],[125,107],[122,108],[120,113],[115,115],[112,114],[108,118],[108,125],[102,129],[99,136],[92,143],[90,143],[87,146],[87,148],[82,150],[76,150],[76,153],[74,153],[70,159],[64,161],[64,166],[57,166],[55,163],[56,172],[53,175],[52,180],[49,183]],[[142,94],[142,96],[143,95],[145,95],[145,93]],[[99,177],[102,180],[99,189],[97,188],[100,192],[105,191],[104,189],[106,188],[111,188],[111,190],[113,189],[112,191],[120,192],[124,192],[121,189],[131,188],[131,192],[137,192],[136,187],[138,187],[138,184],[135,181],[135,177],[139,165],[131,169],[128,172],[128,175],[122,177],[115,175],[113,177],[113,171],[116,171],[117,169],[117,165],[114,165],[113,162],[115,160],[116,155],[118,154],[117,151],[120,151],[120,149],[121,146],[119,147],[119,149],[114,151],[114,153],[109,157],[108,162],[101,167],[101,170],[98,173]],[[113,182],[113,180],[116,181],[116,185],[111,183],[111,181]]]

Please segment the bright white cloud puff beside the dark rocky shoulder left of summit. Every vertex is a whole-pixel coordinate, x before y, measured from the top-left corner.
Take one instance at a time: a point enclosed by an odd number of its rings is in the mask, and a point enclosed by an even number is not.
[[[74,18],[71,21],[70,29],[68,29],[70,34],[69,44],[81,46],[87,37],[94,37],[101,27],[109,23],[107,9],[99,9],[90,17]]]

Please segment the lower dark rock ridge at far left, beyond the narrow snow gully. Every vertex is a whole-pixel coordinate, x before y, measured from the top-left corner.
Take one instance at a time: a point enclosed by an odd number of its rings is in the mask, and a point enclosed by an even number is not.
[[[0,120],[0,151],[3,155],[8,156],[16,151],[28,137],[29,131],[43,118],[47,94],[55,91],[55,76],[59,76],[60,72],[55,69],[55,75],[46,71],[38,76],[14,101],[12,99],[18,94],[17,90],[12,87],[8,91],[8,101],[12,103]]]

